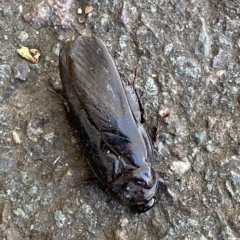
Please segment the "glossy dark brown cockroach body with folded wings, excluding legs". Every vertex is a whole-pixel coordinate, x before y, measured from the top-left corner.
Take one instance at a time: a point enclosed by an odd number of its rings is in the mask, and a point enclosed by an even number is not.
[[[149,210],[155,204],[158,175],[134,89],[123,83],[106,46],[95,36],[66,42],[59,61],[64,94],[91,169],[123,204],[137,212]]]

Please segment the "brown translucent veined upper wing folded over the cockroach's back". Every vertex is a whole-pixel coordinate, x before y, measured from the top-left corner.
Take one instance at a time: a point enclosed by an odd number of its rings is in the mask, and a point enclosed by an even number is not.
[[[147,149],[137,128],[139,123],[134,119],[115,63],[102,41],[96,37],[79,37],[65,44],[60,60],[68,68],[61,78],[75,112],[84,108],[102,139],[117,155],[132,157],[136,166],[146,165]]]

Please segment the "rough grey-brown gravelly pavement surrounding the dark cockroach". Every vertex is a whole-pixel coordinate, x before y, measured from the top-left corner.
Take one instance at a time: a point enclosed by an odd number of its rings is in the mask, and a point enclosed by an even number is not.
[[[0,238],[240,238],[239,15],[239,0],[1,0]],[[159,130],[168,193],[140,216],[89,180],[49,91],[61,89],[59,49],[81,34],[102,38],[130,82],[138,68],[145,127]]]

